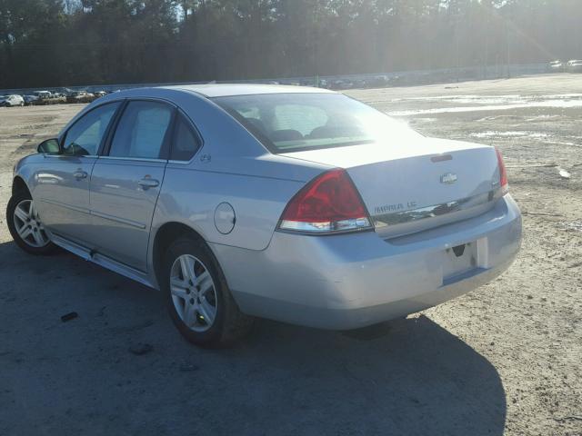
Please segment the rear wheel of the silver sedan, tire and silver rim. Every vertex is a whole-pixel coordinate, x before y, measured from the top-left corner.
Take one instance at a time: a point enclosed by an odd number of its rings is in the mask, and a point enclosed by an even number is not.
[[[252,318],[238,309],[214,254],[194,237],[166,250],[161,287],[176,328],[196,345],[224,347],[245,336]]]

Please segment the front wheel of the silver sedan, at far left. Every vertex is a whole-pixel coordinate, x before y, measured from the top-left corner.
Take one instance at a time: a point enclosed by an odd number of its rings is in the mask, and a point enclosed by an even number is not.
[[[6,223],[16,245],[26,253],[46,255],[55,252],[56,245],[45,232],[35,203],[27,191],[17,191],[10,198],[6,207]]]

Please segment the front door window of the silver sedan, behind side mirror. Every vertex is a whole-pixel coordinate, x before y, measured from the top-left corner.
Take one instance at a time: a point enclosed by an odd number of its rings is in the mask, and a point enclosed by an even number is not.
[[[104,104],[77,120],[65,135],[63,153],[69,156],[95,156],[119,104]]]

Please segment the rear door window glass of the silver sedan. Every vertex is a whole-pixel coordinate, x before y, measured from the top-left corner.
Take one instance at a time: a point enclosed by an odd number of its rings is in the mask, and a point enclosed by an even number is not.
[[[174,108],[159,102],[130,102],[115,129],[109,155],[164,159]]]

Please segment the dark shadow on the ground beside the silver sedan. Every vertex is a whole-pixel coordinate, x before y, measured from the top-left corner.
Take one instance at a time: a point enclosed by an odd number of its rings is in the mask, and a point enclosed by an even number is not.
[[[425,316],[349,333],[261,320],[209,351],[160,292],[70,254],[0,244],[0,283],[1,434],[504,431],[496,369]]]

